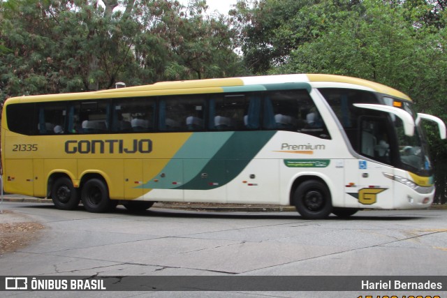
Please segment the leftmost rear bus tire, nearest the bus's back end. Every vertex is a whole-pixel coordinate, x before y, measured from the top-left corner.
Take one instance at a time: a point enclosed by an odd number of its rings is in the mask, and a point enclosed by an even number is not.
[[[54,181],[51,189],[51,199],[57,209],[73,210],[78,207],[78,190],[73,186],[71,179],[61,177]]]

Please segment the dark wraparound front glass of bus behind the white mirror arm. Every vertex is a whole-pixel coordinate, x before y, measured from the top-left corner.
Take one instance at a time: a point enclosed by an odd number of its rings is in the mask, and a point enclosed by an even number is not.
[[[369,91],[318,90],[339,119],[351,147],[360,156],[430,176],[432,165],[420,126],[416,126],[414,135],[410,137],[404,133],[403,121],[395,114],[353,107],[355,103],[385,104],[401,108],[416,119],[417,114],[410,102]]]

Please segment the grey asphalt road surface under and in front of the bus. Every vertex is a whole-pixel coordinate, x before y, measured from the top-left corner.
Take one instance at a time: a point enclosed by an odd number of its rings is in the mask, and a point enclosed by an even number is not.
[[[0,258],[0,276],[447,276],[447,210],[359,211],[307,221],[295,212],[207,212],[3,202],[45,225],[39,241]],[[444,289],[447,288],[447,278]],[[108,297],[110,292],[3,292]],[[1,293],[0,293],[1,294]],[[56,295],[57,294],[57,295]],[[116,297],[359,297],[447,292],[117,292]],[[52,296],[54,295],[54,296]],[[374,296],[376,297],[376,296]],[[408,296],[406,296],[408,297]]]

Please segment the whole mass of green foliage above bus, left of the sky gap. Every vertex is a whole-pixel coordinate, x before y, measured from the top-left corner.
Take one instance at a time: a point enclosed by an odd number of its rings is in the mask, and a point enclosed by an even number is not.
[[[0,89],[6,96],[108,89],[238,75],[223,16],[174,0],[8,0],[0,6]],[[119,6],[121,3],[121,6]]]

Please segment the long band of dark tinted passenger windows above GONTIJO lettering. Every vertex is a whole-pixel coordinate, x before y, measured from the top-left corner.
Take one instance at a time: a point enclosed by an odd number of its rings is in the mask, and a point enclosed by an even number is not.
[[[305,89],[68,100],[7,107],[10,129],[28,135],[265,129],[330,137]]]

